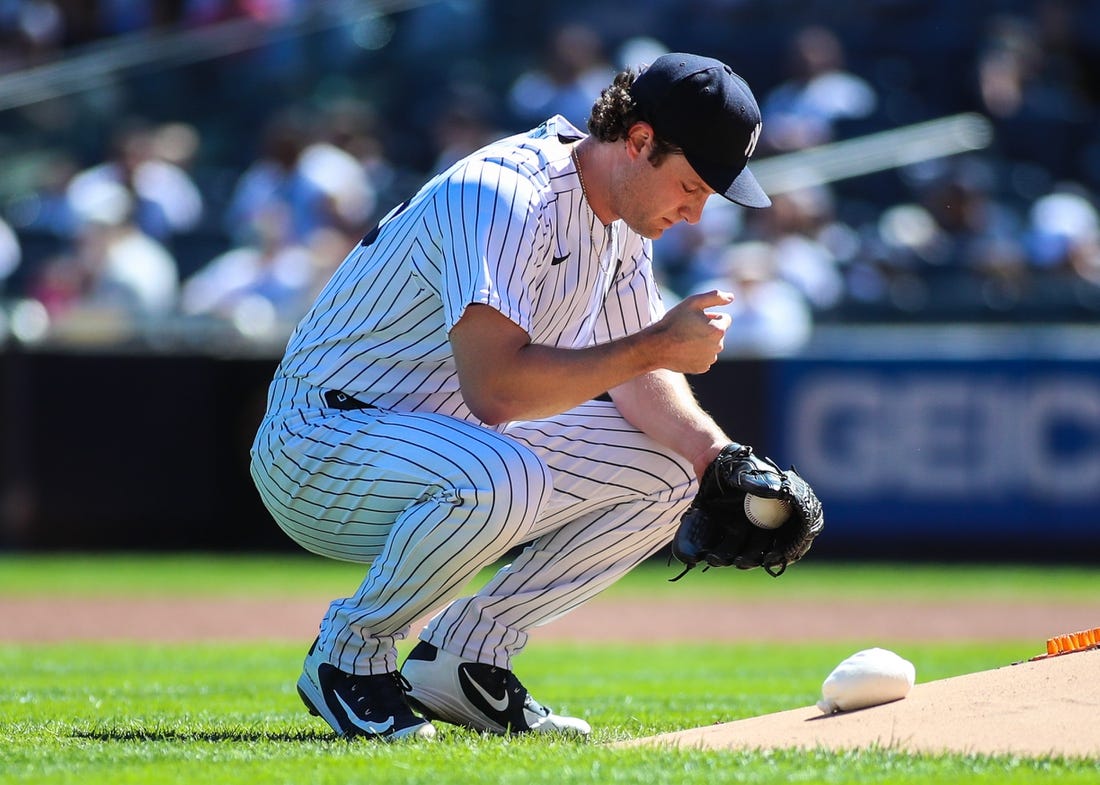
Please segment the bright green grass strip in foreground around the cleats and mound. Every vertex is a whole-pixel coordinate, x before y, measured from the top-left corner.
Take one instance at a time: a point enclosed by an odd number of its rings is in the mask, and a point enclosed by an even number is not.
[[[1011,644],[909,646],[922,681],[994,667]],[[298,703],[300,646],[0,648],[3,783],[1094,783],[1098,762],[610,749],[649,736],[812,704],[843,644],[542,645],[537,695],[592,721],[588,742],[501,739],[440,726],[430,743],[343,742]]]

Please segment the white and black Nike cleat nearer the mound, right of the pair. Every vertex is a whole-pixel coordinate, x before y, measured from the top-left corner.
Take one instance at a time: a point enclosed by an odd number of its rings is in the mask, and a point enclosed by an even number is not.
[[[516,674],[469,662],[420,641],[402,667],[409,704],[425,717],[491,733],[587,736],[583,719],[556,715],[530,696]]]

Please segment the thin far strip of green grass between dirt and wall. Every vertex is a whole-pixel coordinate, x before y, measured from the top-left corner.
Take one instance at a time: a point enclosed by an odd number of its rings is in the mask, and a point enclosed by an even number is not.
[[[807,560],[772,578],[763,571],[697,570],[678,583],[676,565],[654,561],[606,596],[678,599],[813,596],[838,599],[999,599],[1092,602],[1100,567],[1002,564],[836,564]],[[0,556],[0,596],[343,596],[365,568],[311,555],[19,555]],[[486,572],[479,581],[484,581]]]

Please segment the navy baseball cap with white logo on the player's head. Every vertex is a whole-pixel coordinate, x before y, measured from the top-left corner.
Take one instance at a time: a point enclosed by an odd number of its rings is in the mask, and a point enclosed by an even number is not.
[[[653,131],[682,150],[716,192],[744,207],[771,204],[748,169],[760,139],[760,107],[729,66],[700,55],[661,55],[634,80],[630,96]]]

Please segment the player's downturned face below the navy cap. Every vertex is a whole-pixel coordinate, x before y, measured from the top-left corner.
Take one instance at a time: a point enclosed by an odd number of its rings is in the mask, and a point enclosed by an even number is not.
[[[630,229],[651,240],[681,221],[696,223],[714,190],[682,155],[649,162],[649,142],[613,184],[613,209]]]

